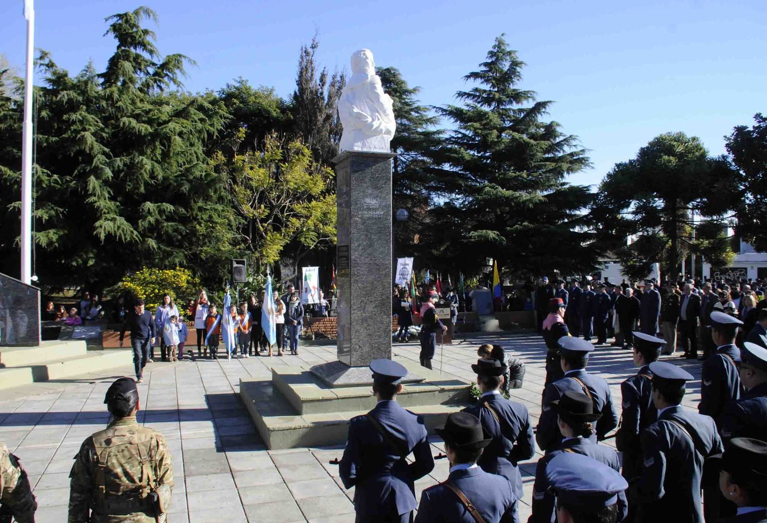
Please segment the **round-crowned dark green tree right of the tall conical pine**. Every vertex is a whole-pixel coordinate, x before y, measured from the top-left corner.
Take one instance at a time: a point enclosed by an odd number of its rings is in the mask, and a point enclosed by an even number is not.
[[[699,138],[664,133],[607,173],[594,218],[601,234],[614,238],[631,278],[646,276],[655,262],[674,278],[690,252],[723,267],[732,258],[725,231],[734,182],[726,159],[710,157]],[[695,225],[693,212],[700,216]]]

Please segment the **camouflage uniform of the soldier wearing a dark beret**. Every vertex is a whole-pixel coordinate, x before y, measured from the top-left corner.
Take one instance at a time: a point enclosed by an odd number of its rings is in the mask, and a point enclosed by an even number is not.
[[[69,477],[68,523],[167,521],[170,451],[163,435],[140,426],[136,416],[117,419],[86,439]]]

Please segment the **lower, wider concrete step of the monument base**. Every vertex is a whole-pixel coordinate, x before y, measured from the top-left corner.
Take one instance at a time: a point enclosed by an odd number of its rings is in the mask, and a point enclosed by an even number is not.
[[[369,410],[335,411],[301,416],[296,414],[291,403],[268,380],[241,379],[239,390],[240,398],[245,403],[268,449],[341,444],[346,441],[349,420]],[[399,400],[400,397],[397,399]],[[426,429],[432,434],[434,427],[443,424],[449,413],[463,410],[468,405],[469,402],[407,408],[423,416]]]

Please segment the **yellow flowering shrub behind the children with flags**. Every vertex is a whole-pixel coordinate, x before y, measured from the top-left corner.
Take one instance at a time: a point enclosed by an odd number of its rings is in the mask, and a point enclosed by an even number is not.
[[[199,279],[189,269],[158,269],[144,267],[140,271],[123,278],[117,286],[137,298],[142,298],[146,309],[152,311],[162,301],[164,294],[170,294],[173,301],[183,305],[189,298],[196,298],[199,293]]]

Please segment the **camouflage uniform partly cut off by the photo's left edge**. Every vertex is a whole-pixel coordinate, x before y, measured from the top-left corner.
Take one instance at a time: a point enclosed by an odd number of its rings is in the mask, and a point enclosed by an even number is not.
[[[18,523],[35,523],[37,508],[27,472],[0,442],[0,521],[11,521],[13,515]]]

